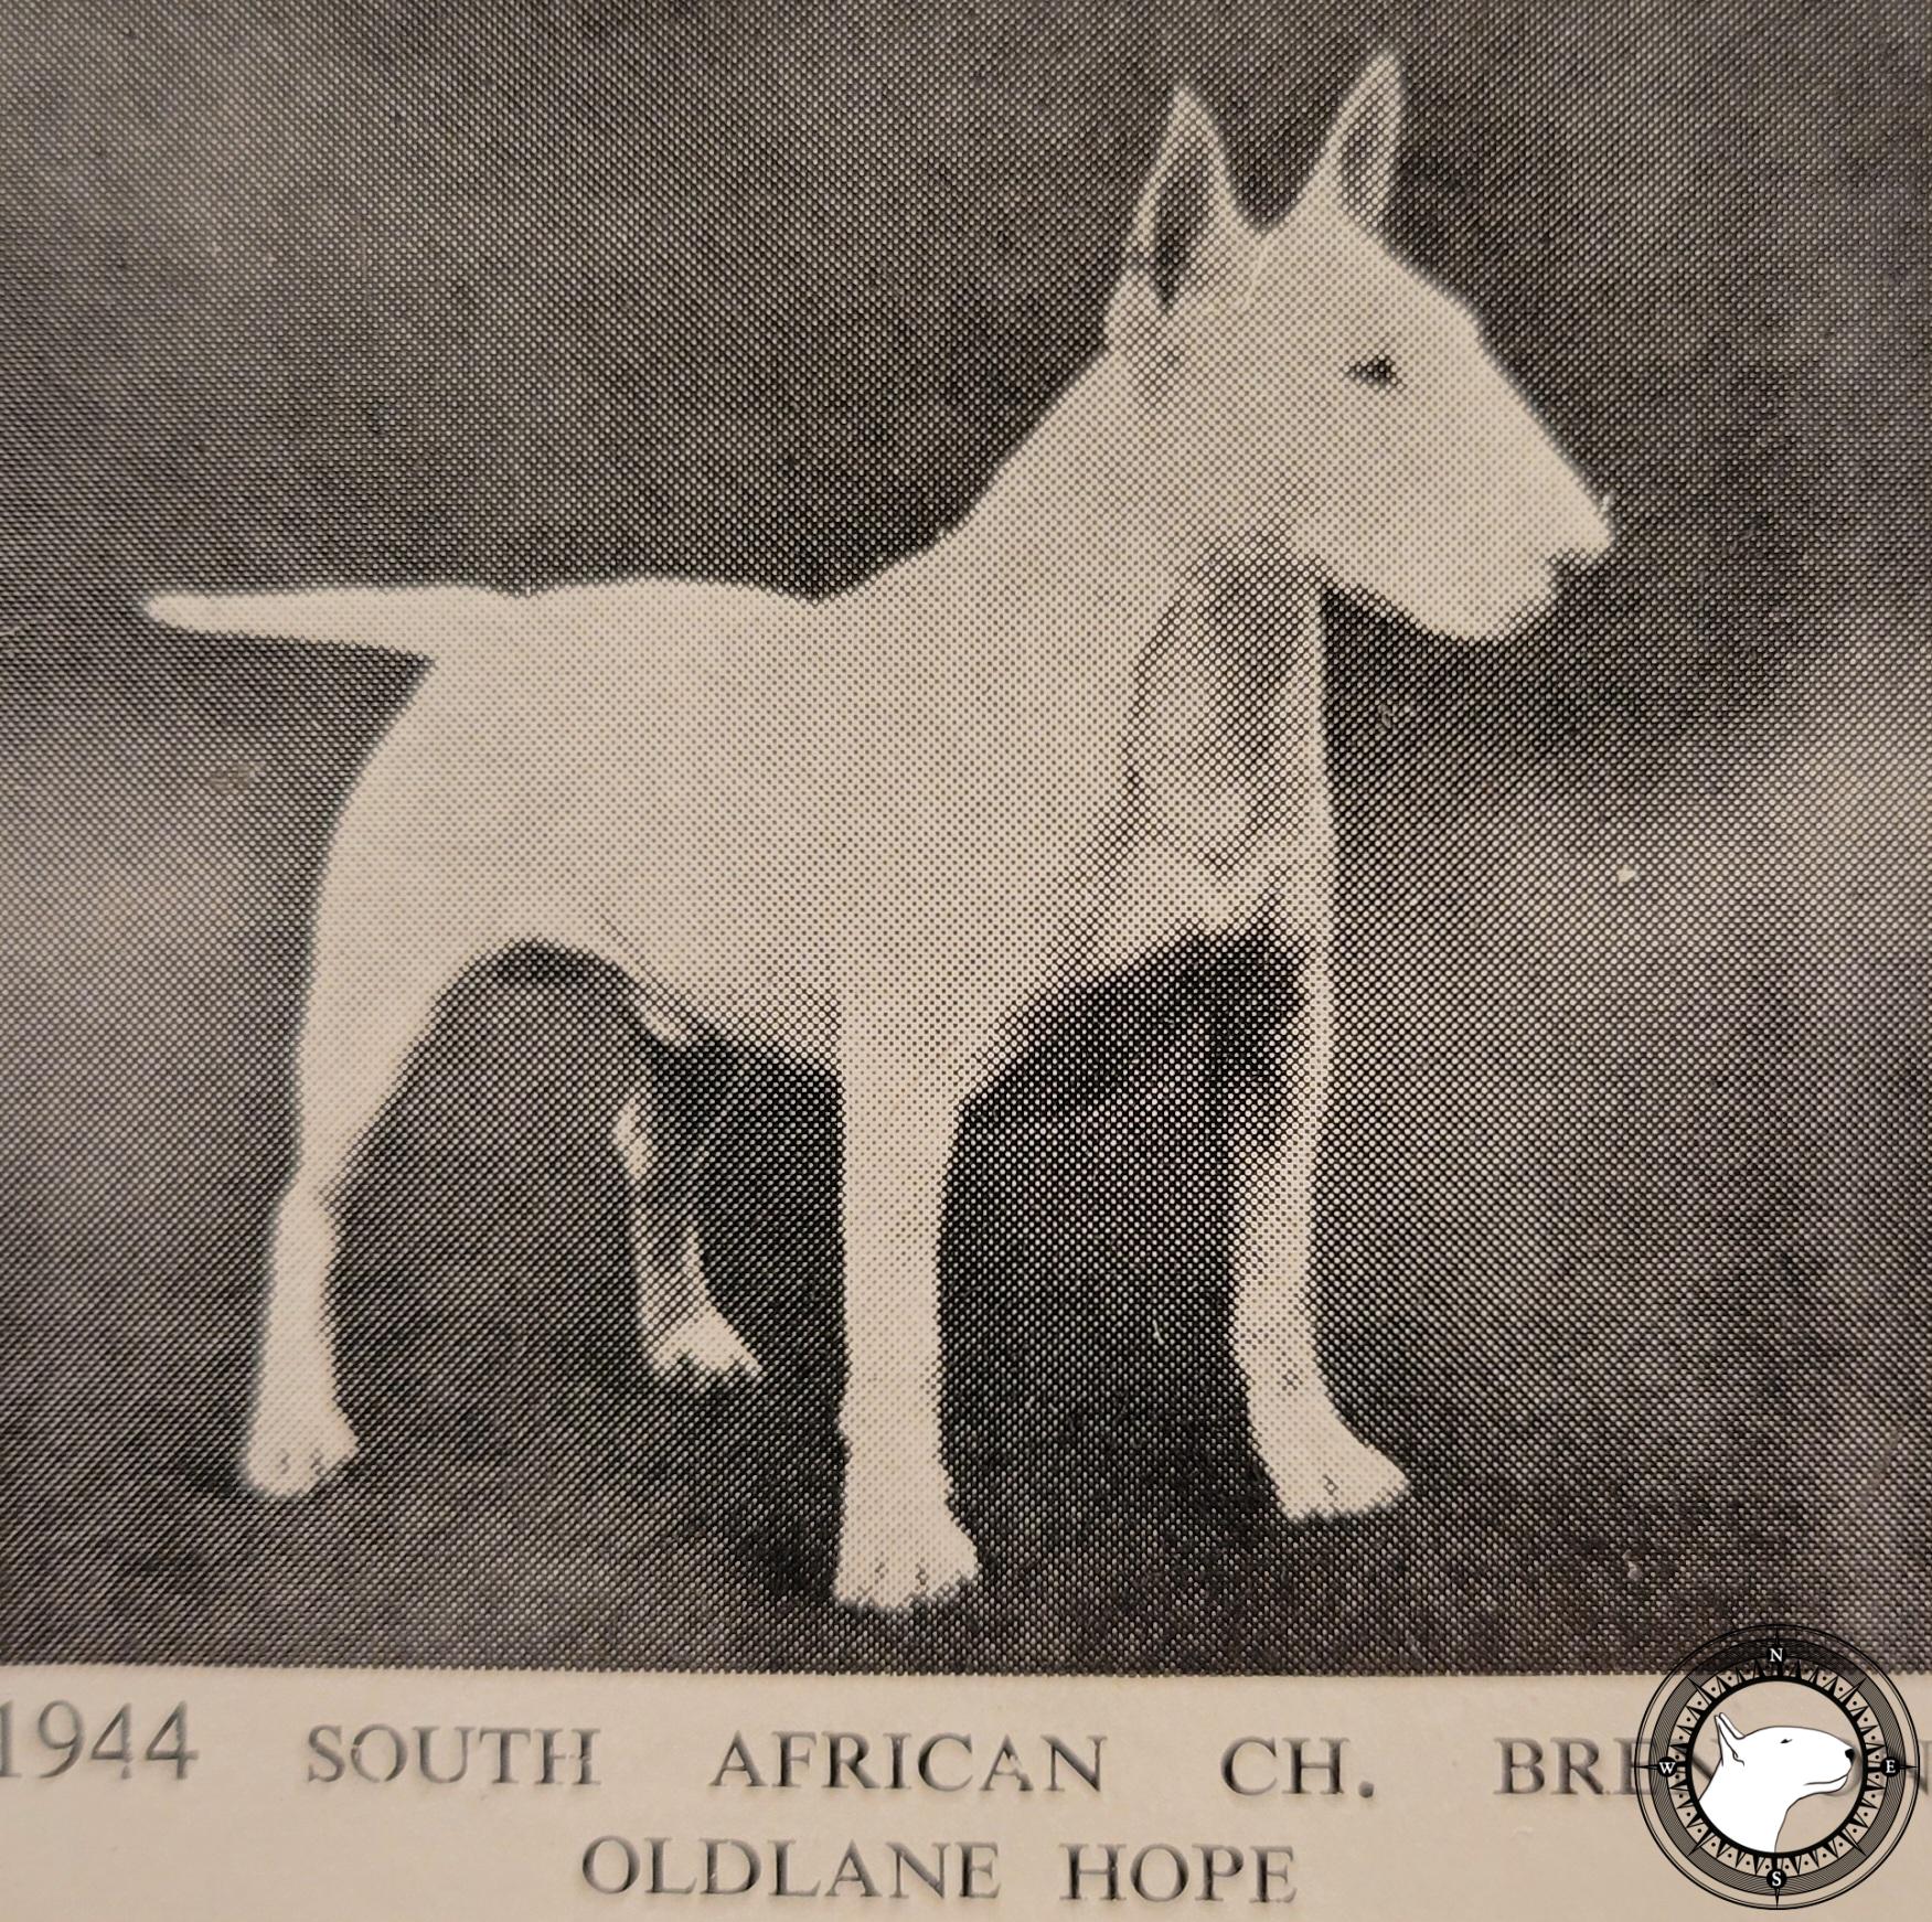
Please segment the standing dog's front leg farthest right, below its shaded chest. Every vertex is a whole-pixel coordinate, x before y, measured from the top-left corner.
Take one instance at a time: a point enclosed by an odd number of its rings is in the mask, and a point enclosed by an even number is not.
[[[1235,1358],[1248,1381],[1248,1426],[1285,1514],[1354,1514],[1408,1485],[1358,1441],[1321,1379],[1308,1261],[1314,1173],[1327,1109],[1333,987],[1320,948],[1300,966],[1298,1016],[1262,1035],[1260,1074],[1229,1103],[1236,1169]]]

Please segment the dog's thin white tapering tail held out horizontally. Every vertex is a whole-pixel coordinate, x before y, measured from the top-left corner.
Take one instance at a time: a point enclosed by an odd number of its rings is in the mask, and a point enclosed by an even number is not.
[[[201,634],[375,647],[452,661],[495,651],[508,601],[481,587],[319,587],[307,593],[156,595],[147,618]]]

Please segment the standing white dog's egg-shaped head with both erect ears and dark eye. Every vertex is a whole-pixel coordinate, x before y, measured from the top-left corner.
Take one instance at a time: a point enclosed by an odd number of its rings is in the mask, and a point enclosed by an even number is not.
[[[1381,56],[1291,211],[1258,228],[1213,120],[1179,95],[1107,332],[1190,539],[1265,543],[1482,639],[1536,614],[1609,529],[1466,305],[1383,243],[1401,114]]]

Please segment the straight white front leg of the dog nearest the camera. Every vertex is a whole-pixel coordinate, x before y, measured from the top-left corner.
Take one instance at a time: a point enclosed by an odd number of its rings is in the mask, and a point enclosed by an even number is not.
[[[952,1520],[941,1437],[939,1223],[958,1095],[904,1024],[844,1051],[844,1516],[850,1607],[939,1601],[978,1561]]]

